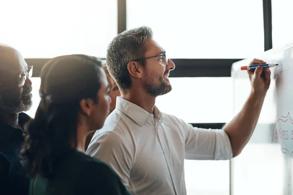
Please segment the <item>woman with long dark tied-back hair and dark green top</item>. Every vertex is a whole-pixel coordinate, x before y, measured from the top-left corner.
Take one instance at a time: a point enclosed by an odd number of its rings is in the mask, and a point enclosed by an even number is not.
[[[83,154],[86,135],[109,113],[108,92],[98,59],[61,56],[44,66],[42,99],[21,151],[30,195],[130,195],[111,168]]]

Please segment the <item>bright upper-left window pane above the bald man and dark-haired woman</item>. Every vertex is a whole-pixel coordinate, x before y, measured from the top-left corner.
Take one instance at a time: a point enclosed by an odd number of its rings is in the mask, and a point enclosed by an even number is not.
[[[117,0],[3,0],[0,7],[5,19],[0,21],[0,42],[24,58],[105,58],[117,35]]]

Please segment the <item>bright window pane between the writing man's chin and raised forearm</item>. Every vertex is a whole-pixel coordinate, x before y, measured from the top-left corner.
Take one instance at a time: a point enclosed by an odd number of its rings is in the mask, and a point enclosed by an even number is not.
[[[232,119],[232,78],[197,77],[169,80],[172,91],[156,99],[156,105],[162,112],[188,123],[226,123]]]

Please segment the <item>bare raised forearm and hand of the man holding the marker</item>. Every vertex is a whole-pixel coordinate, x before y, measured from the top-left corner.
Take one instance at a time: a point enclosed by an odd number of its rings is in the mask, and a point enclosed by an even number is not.
[[[260,59],[253,59],[252,64],[264,64]],[[233,157],[238,156],[249,141],[258,121],[264,99],[271,83],[269,68],[258,66],[255,71],[248,71],[251,80],[251,94],[241,111],[223,127],[227,133]]]

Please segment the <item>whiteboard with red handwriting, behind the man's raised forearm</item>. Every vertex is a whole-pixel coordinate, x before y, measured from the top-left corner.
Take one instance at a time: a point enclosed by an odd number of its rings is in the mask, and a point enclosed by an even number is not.
[[[255,58],[279,65],[270,68],[271,86],[249,143],[231,160],[231,195],[293,195],[293,44]],[[232,64],[234,115],[251,91],[240,70],[250,61]]]

